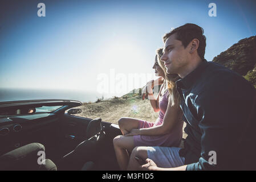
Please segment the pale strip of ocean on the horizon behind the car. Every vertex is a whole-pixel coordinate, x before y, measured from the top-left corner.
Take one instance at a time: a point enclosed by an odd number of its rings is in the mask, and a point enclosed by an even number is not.
[[[50,90],[50,89],[13,89],[0,88],[0,102],[39,100],[39,99],[67,99],[80,102],[95,102],[102,94],[78,90]],[[104,96],[104,99],[107,98]]]

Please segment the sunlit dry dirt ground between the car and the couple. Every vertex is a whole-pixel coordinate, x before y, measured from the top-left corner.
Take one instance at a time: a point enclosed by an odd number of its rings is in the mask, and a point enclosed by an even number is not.
[[[82,113],[76,114],[86,118],[100,117],[102,121],[117,124],[121,117],[131,117],[155,122],[159,113],[156,113],[149,100],[141,100],[140,96],[125,98],[112,98],[97,103],[84,104],[76,107],[82,109]],[[186,138],[183,126],[183,138]]]

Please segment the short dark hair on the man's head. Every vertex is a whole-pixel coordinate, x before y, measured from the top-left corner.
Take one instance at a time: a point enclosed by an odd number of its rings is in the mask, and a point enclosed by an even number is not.
[[[198,39],[199,46],[197,53],[201,59],[205,59],[206,37],[203,35],[204,29],[202,27],[193,23],[186,23],[180,27],[174,28],[172,31],[164,35],[162,38],[164,43],[166,39],[173,34],[176,34],[176,39],[180,40],[185,48],[193,39]]]

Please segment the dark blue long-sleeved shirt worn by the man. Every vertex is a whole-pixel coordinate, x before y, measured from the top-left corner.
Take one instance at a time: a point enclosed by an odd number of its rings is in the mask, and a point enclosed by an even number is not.
[[[186,170],[256,169],[254,86],[206,60],[176,84],[188,134],[180,150]]]

